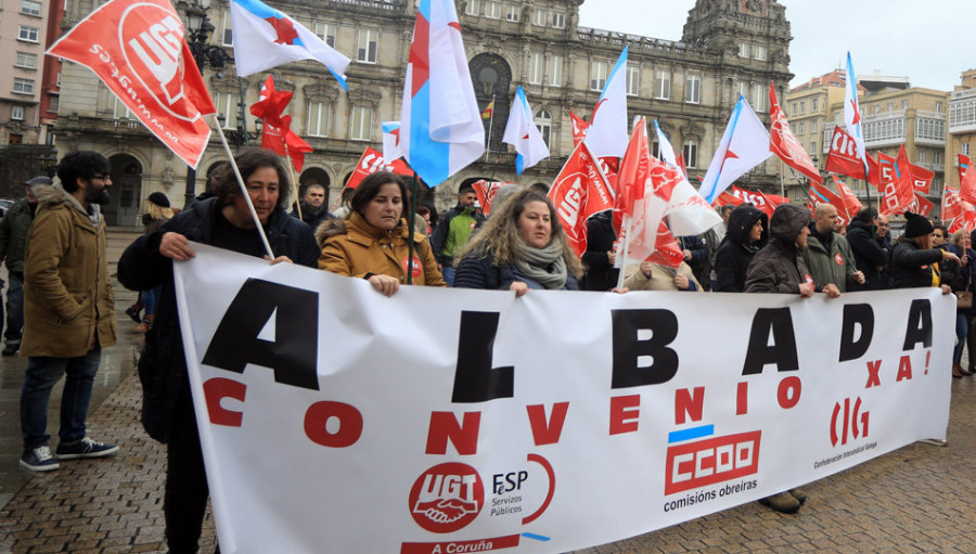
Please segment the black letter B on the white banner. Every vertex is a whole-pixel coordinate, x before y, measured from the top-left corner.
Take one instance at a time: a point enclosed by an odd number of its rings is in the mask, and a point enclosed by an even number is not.
[[[667,383],[678,373],[678,352],[668,348],[678,336],[678,318],[669,310],[613,310],[614,375],[611,388]],[[638,339],[639,331],[651,338]],[[640,357],[652,359],[641,368]]]

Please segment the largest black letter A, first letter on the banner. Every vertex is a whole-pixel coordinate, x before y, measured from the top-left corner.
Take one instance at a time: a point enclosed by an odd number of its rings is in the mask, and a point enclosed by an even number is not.
[[[274,318],[274,342],[258,338]],[[248,363],[274,370],[274,382],[319,390],[319,295],[248,279],[217,325],[203,363],[244,373]]]

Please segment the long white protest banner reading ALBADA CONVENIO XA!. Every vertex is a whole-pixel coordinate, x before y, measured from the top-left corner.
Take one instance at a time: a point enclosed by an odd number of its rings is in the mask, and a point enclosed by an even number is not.
[[[565,552],[946,436],[937,288],[386,298],[193,247],[176,280],[222,552]]]

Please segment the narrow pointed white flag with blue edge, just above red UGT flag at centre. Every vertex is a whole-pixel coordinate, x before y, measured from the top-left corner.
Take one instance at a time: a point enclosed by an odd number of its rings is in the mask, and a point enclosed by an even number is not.
[[[596,157],[624,157],[627,151],[627,47],[620,52],[614,70],[590,116],[587,146]]]

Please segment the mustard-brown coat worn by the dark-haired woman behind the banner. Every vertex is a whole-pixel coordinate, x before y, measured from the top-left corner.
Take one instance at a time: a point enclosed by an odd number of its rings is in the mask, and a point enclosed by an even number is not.
[[[355,211],[348,219],[325,221],[316,231],[316,239],[322,246],[319,269],[360,279],[367,273],[389,275],[406,283],[407,234],[406,219],[389,232],[369,224]],[[423,266],[423,270],[414,266],[413,284],[447,286],[427,239],[421,233],[413,236],[413,256]]]

